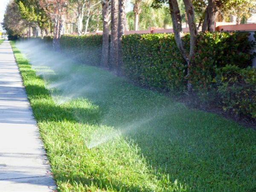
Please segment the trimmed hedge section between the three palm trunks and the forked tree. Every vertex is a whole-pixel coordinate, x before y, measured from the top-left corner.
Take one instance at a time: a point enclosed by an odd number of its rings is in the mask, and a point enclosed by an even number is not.
[[[122,48],[123,70],[131,80],[172,93],[186,90],[186,64],[174,35],[125,35]]]

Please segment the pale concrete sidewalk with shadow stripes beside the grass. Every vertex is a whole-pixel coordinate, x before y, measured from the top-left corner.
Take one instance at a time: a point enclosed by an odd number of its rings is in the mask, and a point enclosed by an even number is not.
[[[52,192],[39,139],[12,48],[0,45],[0,192]]]

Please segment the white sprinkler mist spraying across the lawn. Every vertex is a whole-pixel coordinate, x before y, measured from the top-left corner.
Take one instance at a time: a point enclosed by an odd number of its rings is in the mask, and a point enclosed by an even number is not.
[[[86,137],[84,131],[81,131],[87,148],[96,147],[136,129],[152,126],[155,120],[180,108],[178,105],[168,104],[155,108],[154,102],[149,101],[145,104],[148,108],[138,108],[139,112],[134,111],[134,114],[126,115],[125,111],[131,113],[129,102],[136,102],[132,96],[137,93],[130,93],[125,98],[122,98],[122,93],[116,94],[115,76],[106,75],[106,72],[95,67],[81,67],[76,61],[77,55],[67,56],[53,52],[49,45],[40,41],[18,42],[17,48],[26,56],[36,74],[44,79],[56,105],[63,105],[77,98],[90,99],[95,105],[107,105],[97,122],[99,128]],[[86,57],[86,54],[84,56]],[[118,86],[122,86],[122,83]],[[119,91],[123,91],[122,87]],[[147,100],[143,95],[141,98]],[[107,99],[111,99],[112,105],[109,105],[111,102],[106,101]],[[74,116],[78,122],[83,122],[84,116]]]

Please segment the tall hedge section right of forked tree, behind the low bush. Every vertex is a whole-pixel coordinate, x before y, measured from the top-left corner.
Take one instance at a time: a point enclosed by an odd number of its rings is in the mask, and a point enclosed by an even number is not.
[[[216,69],[226,64],[246,68],[254,55],[250,50],[254,44],[248,41],[247,32],[200,33],[189,80],[193,90],[202,98],[212,94]]]

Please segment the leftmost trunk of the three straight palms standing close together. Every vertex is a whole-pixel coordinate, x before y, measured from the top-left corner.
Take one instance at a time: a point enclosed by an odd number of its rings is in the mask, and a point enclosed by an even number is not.
[[[100,65],[108,68],[108,46],[109,46],[109,6],[110,0],[102,1],[102,55]]]

